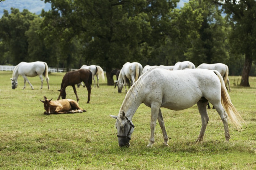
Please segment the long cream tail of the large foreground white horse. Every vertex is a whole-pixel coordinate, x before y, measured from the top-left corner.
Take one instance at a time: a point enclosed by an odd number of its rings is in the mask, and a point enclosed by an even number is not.
[[[214,70],[214,73],[219,77],[220,83],[221,83],[221,104],[226,110],[230,121],[236,126],[238,130],[241,130],[241,126],[242,126],[241,121],[244,122],[244,119],[232,104],[221,74],[216,70]]]

